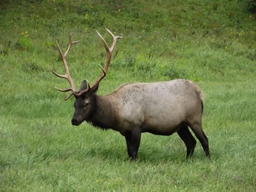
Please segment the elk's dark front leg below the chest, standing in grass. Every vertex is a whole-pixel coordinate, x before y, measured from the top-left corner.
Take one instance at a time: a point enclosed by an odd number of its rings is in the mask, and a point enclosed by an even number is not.
[[[129,154],[129,158],[137,160],[141,133],[132,131],[125,134],[124,137],[127,142],[127,151]]]

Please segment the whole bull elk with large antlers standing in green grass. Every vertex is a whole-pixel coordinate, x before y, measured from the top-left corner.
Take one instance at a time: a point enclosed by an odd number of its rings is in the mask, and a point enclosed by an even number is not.
[[[125,83],[117,87],[109,95],[97,95],[100,81],[105,78],[110,65],[112,52],[118,38],[105,27],[112,36],[112,46],[109,48],[104,38],[98,31],[105,50],[107,52],[105,67],[100,68],[102,73],[97,80],[89,85],[83,80],[80,90],[76,90],[73,79],[70,77],[67,55],[73,44],[79,41],[72,41],[71,36],[68,49],[62,52],[58,41],[55,43],[60,52],[65,75],[59,75],[50,70],[59,78],[65,78],[70,83],[70,88],[61,90],[75,96],[75,112],[71,123],[80,125],[83,121],[90,122],[95,127],[102,129],[113,129],[125,137],[129,159],[137,159],[141,134],[149,132],[158,135],[171,135],[178,133],[186,145],[186,158],[193,154],[196,146],[196,139],[191,134],[191,128],[203,146],[206,156],[210,157],[208,138],[202,129],[203,113],[203,92],[192,81],[177,79],[166,82],[134,82]]]

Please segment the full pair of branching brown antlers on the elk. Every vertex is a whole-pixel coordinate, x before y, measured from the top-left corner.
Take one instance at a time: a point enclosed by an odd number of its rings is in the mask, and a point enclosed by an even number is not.
[[[108,67],[109,67],[109,65],[110,65],[110,60],[111,60],[112,52],[113,52],[114,47],[115,47],[115,45],[116,45],[116,43],[117,43],[117,38],[122,38],[122,36],[114,36],[114,35],[111,33],[111,31],[108,30],[106,27],[105,27],[105,29],[106,29],[106,31],[107,31],[108,33],[110,33],[110,36],[112,36],[112,38],[113,38],[112,46],[111,46],[110,48],[107,46],[107,43],[106,43],[105,39],[102,38],[102,36],[100,35],[100,33],[99,33],[98,31],[96,31],[97,34],[98,34],[98,35],[100,36],[100,38],[102,39],[103,45],[104,45],[104,47],[105,47],[105,49],[106,49],[106,51],[107,51],[107,56],[106,56],[106,61],[105,61],[105,67],[102,68],[102,66],[100,65],[100,68],[102,69],[102,74],[100,75],[100,77],[99,77],[94,83],[92,83],[92,86],[91,86],[91,87],[90,87],[89,83],[87,82],[87,83],[88,83],[88,87],[87,87],[86,90],[83,90],[82,92],[78,92],[78,91],[75,89],[75,84],[74,84],[74,82],[73,82],[73,79],[70,77],[70,73],[69,73],[69,70],[68,70],[68,63],[67,63],[67,60],[66,60],[66,57],[67,57],[67,55],[68,55],[68,52],[69,52],[70,49],[71,49],[71,46],[72,46],[73,44],[75,44],[75,43],[78,43],[79,41],[72,41],[72,40],[71,40],[71,36],[70,36],[70,43],[69,43],[69,45],[68,45],[68,49],[66,50],[66,52],[65,52],[64,54],[63,54],[62,50],[60,49],[60,46],[58,45],[58,41],[57,41],[57,40],[55,41],[55,43],[56,43],[56,45],[57,45],[57,47],[58,47],[58,51],[60,52],[60,56],[61,56],[61,58],[62,58],[62,60],[63,60],[63,65],[64,65],[64,68],[65,68],[65,75],[59,75],[58,73],[55,73],[55,71],[54,71],[52,68],[50,68],[50,70],[51,70],[51,72],[53,72],[54,75],[58,76],[59,78],[65,78],[65,79],[68,80],[68,82],[70,83],[70,86],[71,86],[71,87],[68,88],[68,89],[65,89],[65,90],[61,90],[61,89],[59,89],[58,87],[55,87],[57,90],[59,90],[59,91],[61,91],[61,92],[72,91],[72,92],[70,93],[70,95],[68,95],[68,97],[66,97],[64,100],[68,100],[72,95],[77,95],[77,96],[78,96],[78,95],[84,94],[85,92],[90,91],[91,88],[97,86],[97,85],[100,83],[100,81],[101,81],[103,78],[105,78],[106,73],[107,73],[107,69],[108,69]]]

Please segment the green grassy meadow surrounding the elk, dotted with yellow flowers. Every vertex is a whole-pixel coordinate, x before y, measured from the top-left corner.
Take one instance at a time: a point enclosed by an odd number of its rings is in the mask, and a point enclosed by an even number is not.
[[[0,1],[0,191],[256,191],[254,1]],[[95,30],[119,39],[99,95],[124,82],[186,78],[204,92],[203,130],[191,159],[178,134],[142,134],[138,161],[124,137],[73,127],[55,38],[78,88],[105,63]]]

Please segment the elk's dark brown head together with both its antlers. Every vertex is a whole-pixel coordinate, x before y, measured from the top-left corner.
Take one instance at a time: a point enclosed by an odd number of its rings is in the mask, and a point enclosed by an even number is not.
[[[65,89],[65,90],[59,89],[58,87],[55,87],[55,88],[61,92],[71,91],[70,94],[68,95],[68,97],[66,97],[64,100],[68,100],[72,95],[75,96],[75,103],[74,103],[75,112],[74,112],[73,118],[71,120],[71,123],[73,125],[79,125],[83,121],[89,120],[92,112],[94,110],[96,110],[95,109],[95,107],[96,107],[95,96],[96,96],[97,89],[99,87],[99,83],[106,76],[107,69],[110,65],[112,52],[117,43],[117,38],[122,38],[122,36],[114,36],[111,33],[111,31],[108,30],[106,27],[105,27],[105,29],[108,33],[110,33],[110,36],[112,36],[112,38],[113,38],[112,46],[110,48],[107,46],[105,39],[102,38],[102,36],[100,35],[100,33],[98,31],[96,31],[97,34],[102,39],[105,50],[107,51],[105,67],[102,68],[102,66],[100,65],[100,68],[102,69],[102,74],[100,75],[99,78],[97,78],[97,80],[95,82],[92,83],[92,85],[89,85],[87,80],[83,80],[82,84],[80,85],[79,91],[76,90],[73,79],[70,77],[68,63],[66,60],[68,52],[70,51],[72,45],[75,43],[78,43],[79,41],[72,41],[71,36],[70,36],[69,37],[70,42],[68,45],[68,49],[65,51],[65,53],[63,53],[62,50],[60,49],[60,46],[58,45],[58,41],[57,40],[55,41],[58,51],[60,52],[60,57],[62,58],[62,61],[63,61],[63,65],[65,68],[65,75],[59,75],[58,73],[55,73],[55,71],[52,68],[50,68],[50,70],[53,72],[54,75],[58,76],[59,78],[65,78],[70,83],[70,88]]]

